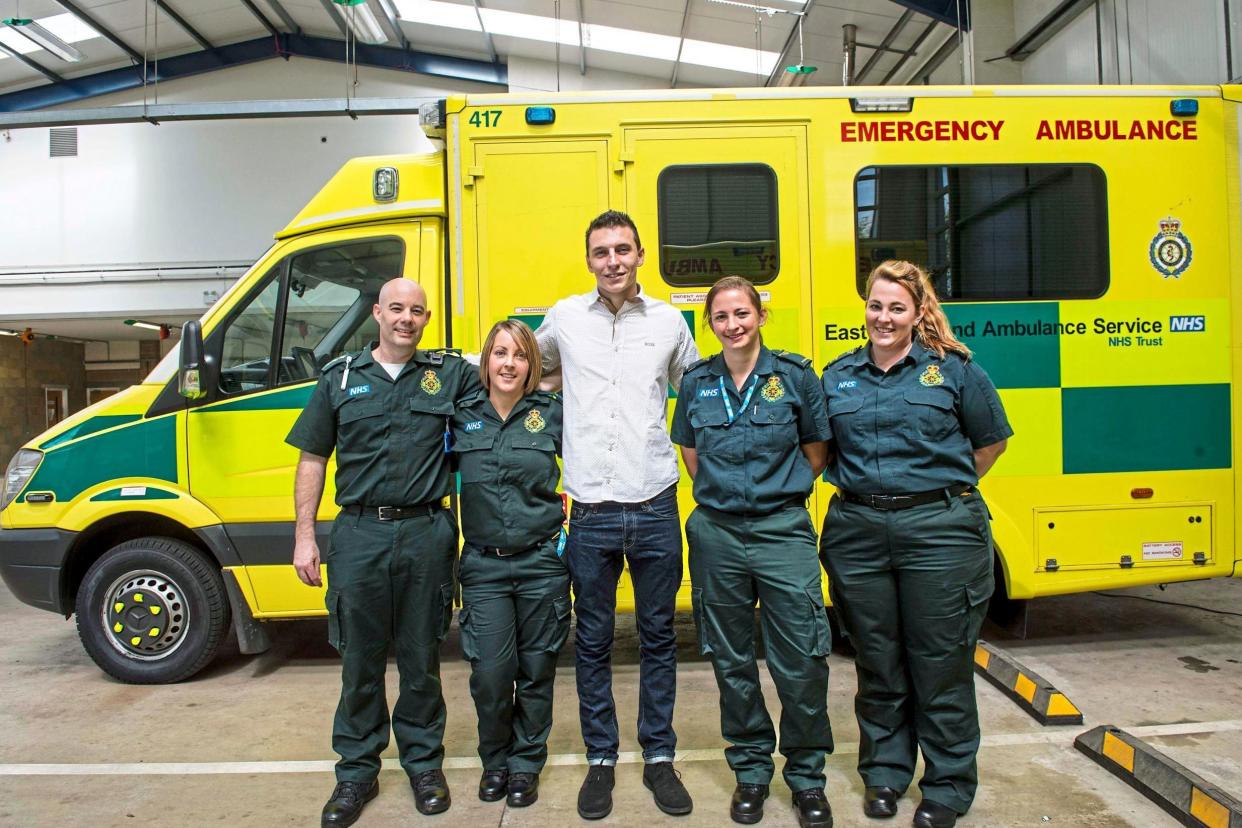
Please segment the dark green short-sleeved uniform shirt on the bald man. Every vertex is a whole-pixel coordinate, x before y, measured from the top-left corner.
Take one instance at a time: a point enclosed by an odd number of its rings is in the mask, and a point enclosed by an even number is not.
[[[340,506],[430,503],[450,490],[447,420],[479,390],[478,369],[450,351],[416,351],[394,380],[368,348],[324,366],[284,441],[319,457],[337,449]]]

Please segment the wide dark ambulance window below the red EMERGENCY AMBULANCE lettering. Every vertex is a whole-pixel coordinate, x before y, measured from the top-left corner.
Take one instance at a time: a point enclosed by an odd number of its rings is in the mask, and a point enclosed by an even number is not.
[[[907,259],[946,300],[1090,299],[1108,289],[1104,173],[1087,164],[868,166],[854,179],[858,293]]]

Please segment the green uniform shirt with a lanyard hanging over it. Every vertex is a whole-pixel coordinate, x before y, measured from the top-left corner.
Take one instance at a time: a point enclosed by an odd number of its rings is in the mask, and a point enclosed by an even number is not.
[[[806,499],[815,475],[801,444],[830,436],[823,390],[810,364],[796,354],[760,346],[741,391],[720,354],[686,371],[671,436],[698,453],[697,503],[756,515]],[[737,415],[732,425],[725,398]]]

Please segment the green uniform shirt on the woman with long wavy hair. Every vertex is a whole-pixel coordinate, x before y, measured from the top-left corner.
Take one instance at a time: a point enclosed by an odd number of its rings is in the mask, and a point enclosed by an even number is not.
[[[979,483],[974,449],[1013,434],[979,364],[918,343],[887,372],[862,345],[823,369],[836,442],[828,479],[858,494]]]

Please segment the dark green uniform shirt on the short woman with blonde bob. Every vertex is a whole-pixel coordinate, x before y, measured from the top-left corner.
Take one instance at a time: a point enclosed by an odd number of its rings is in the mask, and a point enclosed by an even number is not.
[[[525,549],[550,538],[565,516],[556,493],[560,397],[535,391],[501,420],[479,392],[457,408],[452,431],[466,542]]]

